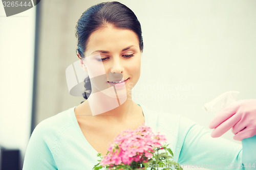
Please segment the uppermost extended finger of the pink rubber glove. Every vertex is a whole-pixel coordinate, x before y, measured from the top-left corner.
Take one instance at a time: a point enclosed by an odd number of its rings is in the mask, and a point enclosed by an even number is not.
[[[230,105],[226,109],[222,110],[218,115],[214,117],[214,119],[211,120],[209,123],[209,128],[214,129],[217,128],[220,124],[225,122],[229,117],[236,114],[237,110],[239,108],[238,102]]]

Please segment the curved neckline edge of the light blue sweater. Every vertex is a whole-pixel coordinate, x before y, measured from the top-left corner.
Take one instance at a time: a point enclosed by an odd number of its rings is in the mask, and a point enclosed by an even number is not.
[[[138,104],[139,105],[139,104]],[[145,114],[145,111],[143,110],[143,108],[142,108],[142,106],[141,105],[139,105],[140,107],[141,107],[141,109],[142,109],[142,113],[143,113],[143,115],[144,115],[144,120],[145,120],[145,125],[147,126],[147,124],[148,124],[148,120],[147,120],[147,115]],[[92,145],[88,142],[88,140],[86,139],[86,137],[84,137],[84,135],[83,135],[83,133],[82,133],[82,130],[81,130],[81,128],[79,127],[79,124],[78,124],[78,122],[77,122],[77,119],[76,119],[76,116],[75,116],[75,108],[76,108],[76,106],[74,106],[73,108],[72,108],[72,110],[71,110],[71,116],[72,116],[72,119],[73,119],[73,124],[74,124],[74,126],[75,126],[75,129],[76,129],[76,131],[78,132],[78,134],[79,134],[79,136],[81,137],[81,139],[83,140],[83,143],[87,146],[87,147],[89,147],[90,148],[90,153],[94,153],[94,155],[97,157],[97,154],[98,154],[98,152],[92,147]]]

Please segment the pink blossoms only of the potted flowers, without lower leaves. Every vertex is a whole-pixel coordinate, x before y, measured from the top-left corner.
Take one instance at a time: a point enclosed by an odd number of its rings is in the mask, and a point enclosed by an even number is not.
[[[111,166],[135,162],[147,162],[153,157],[155,148],[162,147],[166,138],[155,135],[152,129],[144,124],[136,130],[124,130],[116,136],[113,143],[108,146],[108,154],[103,157],[100,164]]]

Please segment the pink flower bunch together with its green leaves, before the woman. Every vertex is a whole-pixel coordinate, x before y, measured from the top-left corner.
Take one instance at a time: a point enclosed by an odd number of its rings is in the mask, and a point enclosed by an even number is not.
[[[148,163],[176,163],[172,161],[173,152],[163,142],[166,142],[165,136],[154,134],[144,124],[136,130],[124,130],[109,144],[104,157],[98,155],[101,160],[94,169],[146,169]]]

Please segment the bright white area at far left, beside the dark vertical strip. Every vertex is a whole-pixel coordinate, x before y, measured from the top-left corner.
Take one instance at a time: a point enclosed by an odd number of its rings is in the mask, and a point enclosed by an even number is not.
[[[0,5],[0,145],[19,149],[22,159],[31,126],[35,10],[6,17]]]

